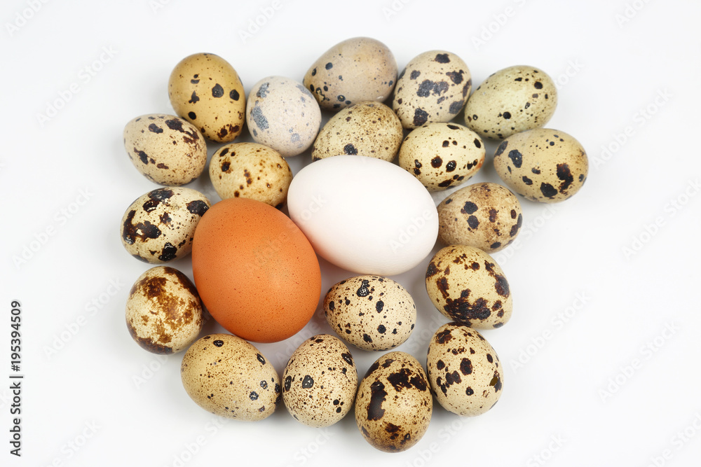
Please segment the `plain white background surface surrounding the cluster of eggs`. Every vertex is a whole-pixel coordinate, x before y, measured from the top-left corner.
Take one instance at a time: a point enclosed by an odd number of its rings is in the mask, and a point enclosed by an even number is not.
[[[243,39],[272,4],[3,2],[0,464],[697,465],[701,5],[280,0]],[[168,76],[191,53],[224,57],[248,92],[264,76],[301,81],[353,36],[386,43],[400,70],[426,50],[449,50],[468,63],[475,87],[513,64],[547,71],[559,83],[547,126],[590,156],[575,197],[552,211],[522,200],[521,242],[495,255],[515,302],[511,321],[484,333],[505,367],[501,400],[476,418],[435,404],[426,435],[401,454],[370,447],[352,413],[325,430],[283,407],[257,423],[217,419],[182,388],[182,354],[147,353],[124,323],[128,289],[149,265],[125,253],[119,221],[156,188],[124,151],[125,123],[172,113]],[[61,97],[74,83],[79,92]],[[62,108],[40,123],[57,101]],[[498,181],[495,148],[468,183]],[[310,158],[290,158],[293,171]],[[206,172],[190,186],[219,200]],[[418,307],[414,335],[398,349],[424,363],[429,336],[447,321],[423,286],[428,260],[395,277]],[[321,263],[323,291],[352,275]],[[191,276],[189,258],[172,265]],[[21,459],[8,443],[11,300],[22,303]],[[282,372],[301,339],[320,332],[330,328],[317,313],[299,335],[259,349]],[[360,375],[381,355],[353,354]]]

